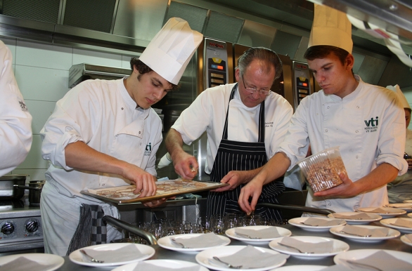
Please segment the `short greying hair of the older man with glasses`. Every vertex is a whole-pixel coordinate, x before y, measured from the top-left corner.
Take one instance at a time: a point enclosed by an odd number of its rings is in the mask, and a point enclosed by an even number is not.
[[[279,58],[278,54],[271,49],[264,47],[252,47],[247,49],[243,55],[240,55],[238,58],[238,67],[236,67],[236,69],[239,69],[240,71],[240,76],[243,76],[243,72],[245,72],[246,68],[253,60],[262,60],[266,62],[266,64],[268,64],[266,66],[266,72],[268,73],[271,69],[271,65],[273,65],[273,68],[275,69],[275,78],[273,81],[281,77],[283,72],[281,58]]]

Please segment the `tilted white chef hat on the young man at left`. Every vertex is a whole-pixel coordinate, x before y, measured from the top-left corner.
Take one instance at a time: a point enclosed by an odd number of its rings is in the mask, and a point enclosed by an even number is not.
[[[170,18],[150,41],[139,60],[172,84],[178,84],[203,35],[186,20]]]

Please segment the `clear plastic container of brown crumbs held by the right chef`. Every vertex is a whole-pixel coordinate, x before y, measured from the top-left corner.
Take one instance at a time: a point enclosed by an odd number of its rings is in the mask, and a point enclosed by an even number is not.
[[[340,173],[346,168],[339,147],[331,147],[297,163],[314,192],[321,192],[342,183]]]

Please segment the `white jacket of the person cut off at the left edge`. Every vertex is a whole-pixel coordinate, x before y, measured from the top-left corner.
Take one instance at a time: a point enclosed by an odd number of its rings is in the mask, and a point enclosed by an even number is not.
[[[0,41],[0,176],[21,164],[32,146],[32,115],[11,64],[11,51]]]

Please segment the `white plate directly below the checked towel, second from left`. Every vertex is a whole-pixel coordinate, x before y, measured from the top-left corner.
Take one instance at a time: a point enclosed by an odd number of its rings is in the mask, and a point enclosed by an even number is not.
[[[83,249],[94,249],[96,251],[106,251],[106,250],[115,250],[121,249],[123,246],[129,246],[130,243],[112,243],[112,244],[97,244],[96,246],[86,246]],[[146,246],[145,244],[134,244],[139,251],[144,254],[145,256],[141,258],[136,258],[133,260],[127,260],[124,262],[116,262],[116,263],[91,263],[85,262],[83,260],[82,253],[80,253],[79,249],[70,253],[69,258],[73,263],[77,263],[78,265],[86,265],[86,266],[115,266],[115,265],[125,265],[127,263],[134,263],[139,262],[139,260],[146,260],[151,256],[155,255],[155,249],[151,246]]]

